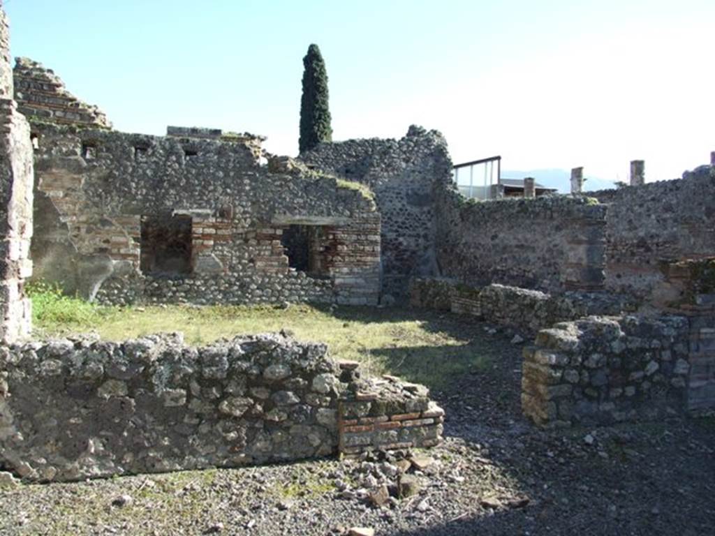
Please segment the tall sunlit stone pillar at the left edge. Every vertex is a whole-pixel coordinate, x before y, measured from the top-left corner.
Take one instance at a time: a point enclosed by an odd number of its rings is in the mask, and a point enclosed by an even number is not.
[[[0,1],[0,341],[29,333],[24,279],[32,273],[33,150],[30,126],[13,100],[9,28]]]

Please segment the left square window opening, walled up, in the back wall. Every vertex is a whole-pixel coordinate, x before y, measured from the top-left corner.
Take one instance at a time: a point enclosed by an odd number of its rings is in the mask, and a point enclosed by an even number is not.
[[[189,216],[142,217],[141,257],[144,274],[190,274],[192,225]]]

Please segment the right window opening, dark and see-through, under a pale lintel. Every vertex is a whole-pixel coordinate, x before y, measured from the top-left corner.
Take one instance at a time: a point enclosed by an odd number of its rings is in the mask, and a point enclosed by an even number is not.
[[[324,234],[320,225],[290,225],[284,229],[281,243],[288,266],[311,277],[327,277]]]

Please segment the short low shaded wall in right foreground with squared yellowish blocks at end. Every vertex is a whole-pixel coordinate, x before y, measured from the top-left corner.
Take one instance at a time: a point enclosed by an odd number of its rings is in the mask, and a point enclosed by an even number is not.
[[[685,317],[588,317],[524,349],[521,403],[539,425],[653,420],[685,409]]]

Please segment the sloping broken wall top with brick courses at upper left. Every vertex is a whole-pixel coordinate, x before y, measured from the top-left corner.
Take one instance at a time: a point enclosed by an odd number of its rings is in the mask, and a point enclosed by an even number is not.
[[[15,100],[28,119],[112,128],[102,110],[69,93],[54,71],[29,58],[15,61]]]

